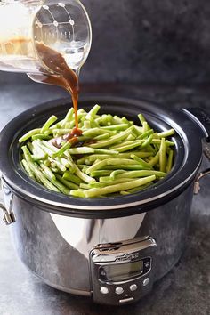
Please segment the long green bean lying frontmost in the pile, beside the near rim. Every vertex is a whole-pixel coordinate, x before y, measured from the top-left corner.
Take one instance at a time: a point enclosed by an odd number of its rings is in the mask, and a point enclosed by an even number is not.
[[[152,175],[152,176],[144,177],[139,180],[135,180],[131,182],[122,182],[122,183],[111,185],[108,187],[84,190],[84,194],[86,198],[99,197],[102,195],[111,194],[113,192],[117,192],[121,190],[129,190],[129,189],[144,185],[147,182],[153,182],[155,181],[155,179],[156,179],[156,176]]]

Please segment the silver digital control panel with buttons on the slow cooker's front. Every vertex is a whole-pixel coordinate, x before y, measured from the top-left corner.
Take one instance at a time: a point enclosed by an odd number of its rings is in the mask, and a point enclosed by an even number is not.
[[[156,246],[150,237],[95,246],[90,253],[94,301],[119,305],[149,293]]]

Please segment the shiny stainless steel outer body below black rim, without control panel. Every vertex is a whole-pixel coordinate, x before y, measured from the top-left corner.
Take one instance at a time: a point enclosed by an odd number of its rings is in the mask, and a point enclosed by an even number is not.
[[[88,256],[93,246],[151,235],[158,244],[154,271],[157,280],[182,254],[192,196],[193,183],[178,197],[146,214],[92,220],[49,214],[14,195],[13,245],[28,269],[52,287],[89,295],[92,284]],[[5,205],[10,199],[7,190]]]

